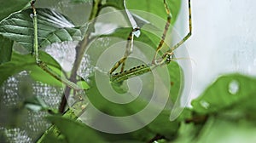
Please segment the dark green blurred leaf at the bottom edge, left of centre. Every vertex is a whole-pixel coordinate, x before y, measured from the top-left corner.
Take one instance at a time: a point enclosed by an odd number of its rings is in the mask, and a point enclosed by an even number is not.
[[[106,142],[100,134],[97,134],[95,129],[90,129],[85,124],[59,116],[47,118],[61,131],[61,134],[66,137],[67,142]]]

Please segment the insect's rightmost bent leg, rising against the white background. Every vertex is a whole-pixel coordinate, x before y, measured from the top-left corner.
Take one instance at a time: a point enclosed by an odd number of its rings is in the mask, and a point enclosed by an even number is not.
[[[183,44],[185,41],[188,40],[188,38],[192,35],[192,18],[191,18],[191,6],[190,6],[190,0],[189,0],[189,33],[183,37],[183,39],[174,45],[171,49],[169,49],[167,52],[171,53],[173,50],[177,49],[181,44]]]

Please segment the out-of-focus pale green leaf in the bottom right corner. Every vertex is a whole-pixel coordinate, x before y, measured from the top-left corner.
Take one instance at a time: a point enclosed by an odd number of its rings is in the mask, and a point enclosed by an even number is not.
[[[183,124],[183,132],[174,143],[255,142],[255,124],[231,122],[216,117],[208,119],[202,128],[193,123]]]

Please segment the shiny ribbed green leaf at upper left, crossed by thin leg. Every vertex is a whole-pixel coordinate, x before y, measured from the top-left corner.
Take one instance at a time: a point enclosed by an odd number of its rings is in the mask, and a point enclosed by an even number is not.
[[[79,41],[83,39],[87,25],[76,27],[73,22],[53,9],[37,9],[38,43],[43,48],[51,43]],[[32,9],[11,14],[0,22],[0,34],[32,51],[33,24]]]

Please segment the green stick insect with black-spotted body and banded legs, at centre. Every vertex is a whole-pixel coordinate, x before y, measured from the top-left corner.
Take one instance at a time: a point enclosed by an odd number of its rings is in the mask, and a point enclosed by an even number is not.
[[[189,33],[183,37],[183,39],[181,41],[179,41],[178,43],[176,43],[171,49],[167,50],[166,53],[162,54],[162,56],[157,59],[157,54],[159,53],[160,49],[162,49],[163,44],[165,43],[165,39],[166,39],[166,32],[169,29],[169,26],[171,24],[171,20],[172,20],[172,14],[171,11],[168,7],[168,4],[166,3],[166,0],[163,0],[165,9],[166,9],[166,14],[167,14],[167,20],[166,20],[166,26],[165,26],[165,30],[163,31],[162,37],[160,39],[160,43],[155,51],[153,60],[150,64],[148,65],[141,65],[141,66],[136,66],[133,67],[129,70],[125,70],[125,60],[127,59],[127,57],[129,56],[129,54],[131,54],[131,50],[132,49],[132,43],[133,43],[133,33],[135,31],[138,31],[139,28],[133,28],[133,30],[131,31],[129,37],[127,38],[127,44],[126,44],[126,51],[130,51],[130,53],[125,52],[123,58],[121,58],[119,61],[117,61],[114,66],[112,67],[112,69],[110,69],[109,71],[109,76],[110,76],[110,82],[113,83],[121,83],[123,81],[125,81],[126,79],[129,79],[131,77],[136,77],[139,75],[142,75],[146,72],[150,72],[151,70],[153,70],[155,67],[157,66],[162,66],[162,65],[167,65],[169,64],[172,60],[174,60],[173,58],[173,51],[175,49],[177,49],[180,45],[182,45],[185,41],[187,41],[189,39],[189,37],[192,34],[192,22],[191,22],[191,9],[190,9],[190,0],[189,0]],[[120,66],[121,67],[121,71],[120,72],[116,72],[114,73],[114,71]]]

